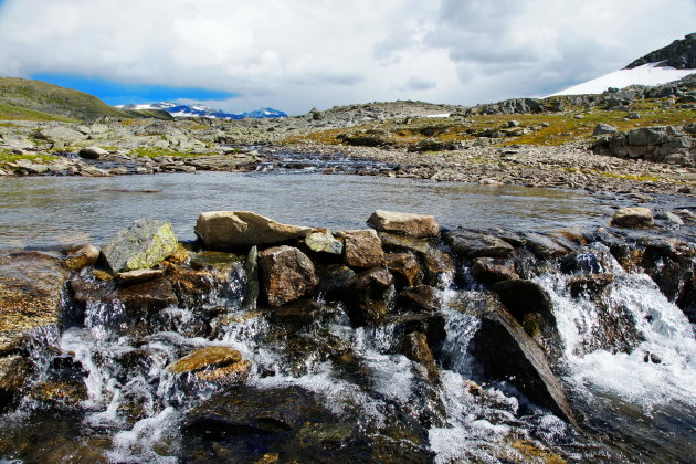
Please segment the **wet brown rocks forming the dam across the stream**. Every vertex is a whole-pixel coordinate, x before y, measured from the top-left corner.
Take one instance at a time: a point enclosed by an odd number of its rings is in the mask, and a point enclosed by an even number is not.
[[[607,262],[615,260],[629,272],[650,275],[696,321],[696,246],[650,210],[620,210],[599,230],[545,234],[442,230],[430,215],[389,211],[376,211],[367,223],[372,229],[331,233],[252,212],[215,211],[200,214],[199,240],[192,243],[179,243],[166,222],[139,220],[102,249],[86,245],[62,255],[2,251],[3,408],[34,388],[31,379],[40,367],[28,357],[33,344],[54,344],[95,304],[105,308],[113,330],[129,335],[148,334],[164,308],[193,310],[196,320],[183,335],[212,345],[182,352],[169,371],[182,384],[236,386],[254,366],[240,351],[214,344],[221,326],[239,324],[220,298],[266,315],[282,333],[320,320],[321,304],[338,302],[354,327],[394,326],[394,352],[422,366],[431,386],[440,381],[446,335],[440,310],[446,305],[482,318],[470,350],[483,379],[512,382],[576,428],[582,423],[560,377],[562,341],[553,305],[535,275],[557,268],[569,276],[572,295],[594,298],[614,284]],[[445,288],[457,296],[445,298]],[[463,288],[476,288],[478,296]],[[587,348],[635,348],[634,325],[616,316],[620,308],[605,309],[602,334]],[[212,433],[221,426],[203,419],[193,414],[186,428]]]

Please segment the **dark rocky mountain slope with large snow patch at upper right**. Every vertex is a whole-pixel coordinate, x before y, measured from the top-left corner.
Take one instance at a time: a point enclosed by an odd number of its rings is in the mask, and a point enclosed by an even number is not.
[[[661,85],[694,73],[696,73],[696,33],[650,52],[623,70],[573,85],[551,96],[601,94],[610,87],[624,88],[630,85]]]

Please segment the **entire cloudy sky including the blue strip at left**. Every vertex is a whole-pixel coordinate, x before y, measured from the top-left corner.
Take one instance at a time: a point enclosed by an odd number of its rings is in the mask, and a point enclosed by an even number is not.
[[[288,114],[545,96],[696,32],[696,0],[0,0],[0,76]]]

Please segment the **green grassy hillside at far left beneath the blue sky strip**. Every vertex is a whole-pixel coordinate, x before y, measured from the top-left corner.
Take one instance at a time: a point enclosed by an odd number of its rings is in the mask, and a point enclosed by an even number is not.
[[[93,120],[103,116],[171,119],[166,112],[119,109],[94,95],[41,81],[0,78],[0,119]]]

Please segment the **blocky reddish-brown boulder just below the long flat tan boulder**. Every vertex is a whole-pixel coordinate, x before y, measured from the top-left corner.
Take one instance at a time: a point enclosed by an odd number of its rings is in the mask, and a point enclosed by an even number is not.
[[[313,289],[318,280],[312,260],[293,246],[275,246],[259,254],[264,296],[277,307]]]

